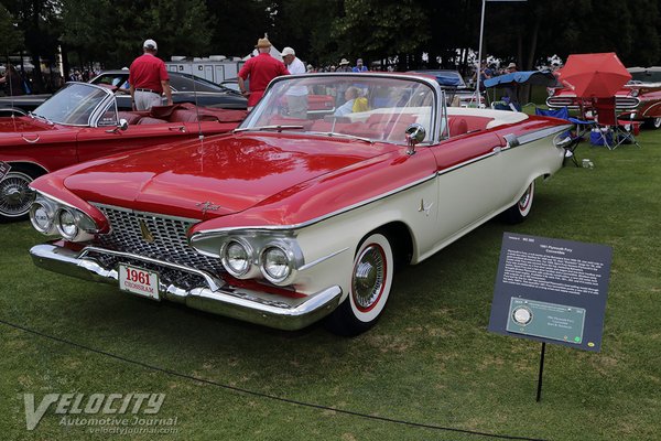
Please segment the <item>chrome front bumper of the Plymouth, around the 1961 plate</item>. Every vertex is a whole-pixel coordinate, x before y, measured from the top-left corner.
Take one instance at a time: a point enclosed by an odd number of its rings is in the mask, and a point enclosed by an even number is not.
[[[160,283],[160,298],[184,303],[197,310],[279,330],[300,330],[323,319],[337,308],[342,298],[342,289],[337,286],[302,299],[264,294],[263,292],[230,287],[209,275],[191,268],[98,248],[74,251],[55,245],[43,244],[32,247],[30,255],[34,265],[40,268],[85,280],[119,286],[117,268],[105,268],[98,261],[85,258],[88,250],[102,251],[104,254],[140,260],[145,263],[156,263],[201,276],[207,281],[207,287],[183,289],[174,283],[167,286]]]

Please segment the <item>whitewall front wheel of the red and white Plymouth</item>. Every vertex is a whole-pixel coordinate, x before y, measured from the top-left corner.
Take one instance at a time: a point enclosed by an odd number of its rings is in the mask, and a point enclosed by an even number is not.
[[[369,235],[354,259],[349,295],[328,316],[326,327],[335,334],[354,336],[373,326],[390,297],[393,269],[388,238],[380,233]]]

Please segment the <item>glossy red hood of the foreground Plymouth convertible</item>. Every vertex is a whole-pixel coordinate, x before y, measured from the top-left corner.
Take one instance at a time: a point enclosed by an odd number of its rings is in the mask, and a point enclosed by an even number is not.
[[[91,164],[66,176],[64,185],[88,202],[208,219],[394,149],[290,133],[240,133]]]

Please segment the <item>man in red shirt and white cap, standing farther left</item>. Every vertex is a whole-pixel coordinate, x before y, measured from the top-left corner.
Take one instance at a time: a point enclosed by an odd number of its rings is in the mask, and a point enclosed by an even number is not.
[[[165,63],[156,57],[156,42],[145,40],[142,45],[143,54],[129,67],[129,85],[133,110],[149,110],[152,106],[161,105],[161,95],[165,93],[167,105],[172,105],[170,77]]]

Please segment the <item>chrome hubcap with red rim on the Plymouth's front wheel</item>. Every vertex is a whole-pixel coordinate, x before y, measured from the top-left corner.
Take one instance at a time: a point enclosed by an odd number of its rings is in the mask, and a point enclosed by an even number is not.
[[[373,306],[383,291],[386,258],[378,245],[370,245],[360,255],[354,269],[353,295],[359,310]]]

